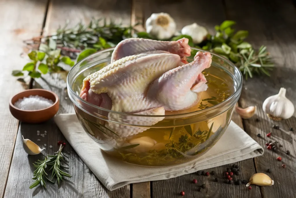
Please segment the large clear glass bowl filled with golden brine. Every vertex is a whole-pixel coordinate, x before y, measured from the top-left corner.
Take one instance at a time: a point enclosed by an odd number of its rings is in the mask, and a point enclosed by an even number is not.
[[[200,106],[193,112],[166,112],[164,116],[135,115],[107,110],[79,97],[83,79],[110,64],[113,50],[110,48],[88,56],[75,64],[67,76],[67,90],[78,120],[103,151],[132,164],[171,166],[197,159],[215,145],[231,121],[242,90],[242,74],[231,61],[211,53],[212,69],[210,72],[205,70],[208,82],[212,82],[209,78],[217,74],[217,79],[229,86],[230,94],[226,94],[227,97],[224,98],[225,92],[221,93],[223,102],[205,109],[206,105]],[[192,48],[193,55],[197,51],[204,52]],[[192,61],[192,58],[189,57],[188,61]],[[218,90],[218,93],[220,88],[214,87],[213,90]],[[161,120],[158,123],[152,126],[147,124],[149,119],[158,118]],[[120,137],[116,131],[108,128],[109,124],[127,127],[131,135]],[[133,133],[137,129],[143,132]]]

